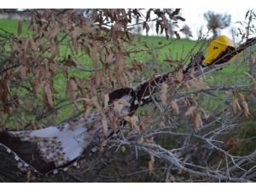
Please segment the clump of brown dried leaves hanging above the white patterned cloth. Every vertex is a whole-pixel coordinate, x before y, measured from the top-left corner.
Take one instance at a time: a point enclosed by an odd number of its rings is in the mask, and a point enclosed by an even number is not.
[[[32,87],[26,89],[26,102],[34,105],[32,101],[36,101],[38,104],[37,109],[27,108],[29,113],[38,110],[43,114],[57,107],[55,104],[61,105],[57,98],[63,98],[63,93],[73,100],[79,96],[101,95],[119,86],[130,86],[135,73],[125,71],[125,59],[129,55],[125,48],[131,42],[132,20],[135,18],[137,25],[143,23],[148,33],[150,12],[157,15],[156,20],[165,30],[168,27],[167,15],[169,20],[174,20],[178,14],[177,10],[149,9],[147,18],[144,18],[140,9],[88,9],[84,10],[84,16],[76,9],[31,9],[30,35],[26,35],[25,25],[19,20],[17,33],[6,38],[10,48],[7,50],[9,58],[2,65],[6,71],[0,74],[0,79],[9,76],[19,84],[9,87],[1,82],[1,110],[9,112],[11,107],[4,103],[12,97],[12,89],[24,92],[22,87]],[[66,51],[61,51],[63,47]],[[90,58],[89,63],[79,59],[81,52]],[[132,71],[139,70],[140,73],[142,68],[137,66]],[[90,72],[90,68],[95,71]],[[90,75],[79,78],[73,75],[81,70]],[[60,73],[66,80],[55,80],[59,79]],[[87,104],[82,102],[88,112]]]

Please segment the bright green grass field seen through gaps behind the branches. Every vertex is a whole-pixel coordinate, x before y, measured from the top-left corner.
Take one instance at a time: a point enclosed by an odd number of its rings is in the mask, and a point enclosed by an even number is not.
[[[0,35],[5,32],[17,34],[17,20],[0,20]],[[30,32],[27,31],[27,23],[22,23],[21,37],[30,36]],[[3,29],[3,30],[2,30]],[[130,64],[133,60],[139,62],[146,62],[148,65],[156,67],[160,73],[170,70],[170,61],[166,61],[166,58],[171,58],[172,61],[183,61],[183,63],[189,63],[191,55],[195,54],[198,50],[206,49],[207,42],[197,42],[188,39],[166,39],[160,37],[143,37],[135,36],[131,45],[127,46],[127,50],[131,52],[130,58],[126,58],[125,62]],[[67,51],[67,47],[61,47],[61,53]],[[71,54],[70,50],[67,54]],[[207,53],[206,53],[207,54]],[[88,55],[80,55],[78,58],[80,63],[84,64],[84,67],[91,69],[91,61]],[[148,69],[147,69],[148,70]],[[150,67],[149,67],[150,70]],[[229,67],[225,67],[223,70],[217,71],[207,75],[206,82],[208,85],[235,85],[241,84],[241,82],[248,81],[244,79],[244,72],[246,71],[245,62],[242,58],[234,61],[234,64]],[[145,71],[145,76],[149,71]],[[89,77],[90,73],[81,72],[79,70],[70,69],[69,74],[74,77],[84,78]],[[66,84],[67,81],[64,79],[63,74],[59,73],[55,76],[54,87],[55,92],[58,93],[55,101],[62,101],[66,99]],[[40,93],[38,93],[40,94]],[[42,101],[41,101],[42,102]],[[214,102],[212,102],[214,106]],[[72,107],[62,108],[60,117],[55,117],[57,121],[69,117],[73,113]],[[30,115],[24,114],[26,119],[29,119]],[[31,118],[34,116],[32,114]],[[10,121],[12,122],[12,121]],[[10,124],[12,126],[12,124]]]

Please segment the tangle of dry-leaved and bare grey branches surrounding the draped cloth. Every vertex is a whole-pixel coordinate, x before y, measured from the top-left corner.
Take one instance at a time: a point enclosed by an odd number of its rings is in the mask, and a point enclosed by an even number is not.
[[[10,125],[16,130],[39,129],[81,114],[88,117],[96,110],[106,122],[104,110],[111,91],[154,80],[166,71],[172,72],[172,80],[160,85],[152,101],[123,117],[127,125],[119,132],[91,143],[80,157],[79,170],[70,167],[69,172],[42,178],[31,172],[20,176],[14,167],[1,166],[1,177],[11,181],[255,181],[255,47],[230,61],[229,68],[207,74],[193,73],[192,67],[183,76],[182,68],[206,48],[207,40],[186,41],[191,51],[183,51],[180,45],[172,48],[176,39],[154,38],[162,42],[148,44],[145,37],[133,36],[135,26],[148,31],[148,22],[154,21],[156,31],[168,38],[167,24],[183,20],[179,11],[148,9],[143,15],[142,9],[93,9],[84,16],[73,9],[36,9],[30,11],[29,22],[17,23],[15,32],[2,30],[2,129]],[[179,53],[155,52],[166,46]],[[143,61],[145,55],[153,60]],[[118,100],[113,109],[128,104]],[[111,131],[107,126],[102,125],[104,135]],[[14,174],[8,174],[10,168]]]

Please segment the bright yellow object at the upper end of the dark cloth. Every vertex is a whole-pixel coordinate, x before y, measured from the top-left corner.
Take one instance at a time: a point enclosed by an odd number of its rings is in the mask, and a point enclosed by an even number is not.
[[[235,44],[232,43],[232,41],[230,40],[230,38],[221,35],[218,38],[216,38],[215,40],[213,40],[208,48],[207,48],[207,58],[204,60],[205,63],[209,64],[212,62],[212,60],[214,60],[215,58],[218,57],[218,55],[223,52],[225,49],[227,49],[227,47],[234,47],[235,48]],[[235,56],[233,56],[232,59],[234,59]]]

